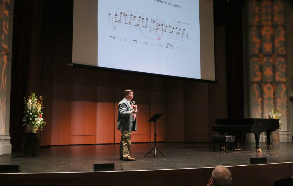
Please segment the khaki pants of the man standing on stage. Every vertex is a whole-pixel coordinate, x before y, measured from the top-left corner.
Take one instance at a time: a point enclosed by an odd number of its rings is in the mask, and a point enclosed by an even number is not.
[[[121,130],[121,140],[120,140],[120,157],[130,158],[130,145],[131,145],[131,132]]]

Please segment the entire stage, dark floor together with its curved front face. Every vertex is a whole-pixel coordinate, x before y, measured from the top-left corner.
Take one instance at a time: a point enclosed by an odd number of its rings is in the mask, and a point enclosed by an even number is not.
[[[20,173],[1,173],[4,185],[206,185],[217,165],[227,166],[232,185],[273,185],[279,178],[293,176],[293,143],[243,144],[242,151],[213,152],[212,143],[159,142],[163,153],[147,154],[154,143],[132,143],[136,161],[119,158],[119,144],[42,147],[40,156],[23,153],[0,156],[0,165],[19,165]],[[154,153],[154,151],[152,151]],[[147,154],[147,156],[145,156]],[[145,157],[144,157],[145,156]],[[251,165],[250,158],[267,158],[267,164]],[[94,163],[114,163],[114,171],[93,171]],[[122,170],[123,169],[123,170]],[[273,174],[272,174],[273,173]]]

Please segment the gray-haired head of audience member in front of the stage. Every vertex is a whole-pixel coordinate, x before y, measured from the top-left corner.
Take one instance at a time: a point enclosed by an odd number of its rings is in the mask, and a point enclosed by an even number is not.
[[[212,172],[207,186],[227,186],[232,182],[230,170],[223,165],[218,165]]]

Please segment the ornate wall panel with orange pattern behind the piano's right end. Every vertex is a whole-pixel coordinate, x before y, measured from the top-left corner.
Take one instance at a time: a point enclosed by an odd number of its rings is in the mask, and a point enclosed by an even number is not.
[[[281,110],[283,124],[288,97],[285,22],[283,0],[248,1],[250,117],[264,118],[274,107]]]

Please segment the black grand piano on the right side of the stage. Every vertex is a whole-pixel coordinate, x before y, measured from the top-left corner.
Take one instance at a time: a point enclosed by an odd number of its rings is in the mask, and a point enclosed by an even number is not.
[[[268,148],[272,148],[270,142],[271,132],[279,129],[279,120],[264,118],[245,118],[245,119],[216,119],[216,125],[212,131],[217,131],[220,135],[225,132],[241,134],[253,132],[255,136],[256,152],[261,152],[259,148],[259,136],[262,132],[267,133]]]

